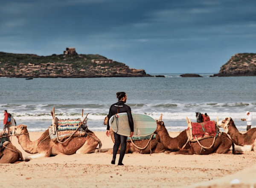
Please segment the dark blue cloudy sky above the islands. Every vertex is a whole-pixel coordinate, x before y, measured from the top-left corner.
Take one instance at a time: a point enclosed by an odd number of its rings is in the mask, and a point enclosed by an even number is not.
[[[99,54],[148,74],[256,53],[255,0],[1,0],[0,52]]]

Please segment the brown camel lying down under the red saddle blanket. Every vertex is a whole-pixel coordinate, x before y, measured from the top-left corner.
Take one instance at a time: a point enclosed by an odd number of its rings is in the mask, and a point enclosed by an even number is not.
[[[160,119],[161,120],[161,119]],[[172,154],[184,154],[184,155],[193,155],[193,154],[201,154],[207,155],[210,153],[233,153],[233,154],[241,154],[234,150],[230,150],[230,147],[233,146],[233,142],[227,137],[227,134],[217,136],[214,144],[212,145],[213,138],[202,139],[199,142],[204,147],[209,147],[209,149],[203,149],[198,142],[190,142],[186,144],[188,137],[186,134],[186,130],[183,130],[177,137],[172,138],[169,136],[168,131],[164,125],[163,121],[157,121],[157,130],[155,131],[157,136],[160,139],[160,142],[164,147],[167,147],[169,150],[174,151]],[[184,149],[183,146],[186,144]]]

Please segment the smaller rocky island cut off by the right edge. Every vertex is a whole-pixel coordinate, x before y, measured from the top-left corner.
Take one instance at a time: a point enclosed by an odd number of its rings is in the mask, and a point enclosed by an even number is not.
[[[256,53],[238,53],[214,76],[256,76]]]

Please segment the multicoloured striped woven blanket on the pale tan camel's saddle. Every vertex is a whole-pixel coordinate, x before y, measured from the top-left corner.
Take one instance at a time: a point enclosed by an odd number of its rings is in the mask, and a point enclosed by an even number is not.
[[[59,119],[58,136],[73,134],[81,124],[83,123],[80,119]],[[80,134],[80,131],[76,131],[75,134]]]

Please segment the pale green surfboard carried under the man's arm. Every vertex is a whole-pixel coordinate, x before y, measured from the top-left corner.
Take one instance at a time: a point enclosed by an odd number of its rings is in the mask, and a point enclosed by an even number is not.
[[[150,116],[132,113],[134,121],[134,136],[147,136],[157,129],[157,122]],[[118,113],[109,119],[109,125],[115,133],[123,136],[130,136],[131,129],[128,122],[127,113]]]

